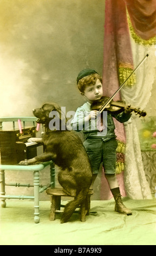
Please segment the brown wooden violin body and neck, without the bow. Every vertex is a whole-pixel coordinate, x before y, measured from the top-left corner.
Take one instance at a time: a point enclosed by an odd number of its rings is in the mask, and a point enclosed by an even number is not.
[[[109,97],[102,96],[100,100],[94,101],[92,103],[91,109],[100,111],[100,113],[102,113],[102,111],[106,109],[106,111],[108,111],[109,113],[120,114],[121,112],[124,111],[125,108],[128,107],[129,109],[131,109],[131,111],[134,111],[136,114],[139,114],[139,117],[146,116],[145,111],[141,111],[140,108],[132,107],[131,105],[126,105],[125,101],[122,101],[122,100],[117,100],[117,101],[111,100],[111,102],[105,107],[105,109],[102,109],[103,105],[105,105],[107,100],[109,100]]]

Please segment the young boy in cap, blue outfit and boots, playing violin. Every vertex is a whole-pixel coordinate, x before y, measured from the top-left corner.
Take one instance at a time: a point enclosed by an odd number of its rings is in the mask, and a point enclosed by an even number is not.
[[[108,181],[109,187],[115,199],[115,211],[120,214],[131,215],[132,211],[127,209],[123,204],[116,179],[116,148],[117,141],[115,135],[115,125],[113,118],[124,123],[131,117],[131,110],[126,108],[120,114],[110,114],[104,112],[103,126],[98,126],[97,110],[90,108],[91,104],[100,100],[103,96],[102,78],[98,72],[93,69],[84,69],[77,76],[77,86],[81,95],[85,98],[86,103],[77,108],[74,119],[72,120],[73,130],[82,130],[85,135],[85,142],[83,143],[88,153],[93,170],[93,183],[98,175],[100,164],[102,162],[105,171],[105,177]],[[101,129],[102,128],[102,129]]]

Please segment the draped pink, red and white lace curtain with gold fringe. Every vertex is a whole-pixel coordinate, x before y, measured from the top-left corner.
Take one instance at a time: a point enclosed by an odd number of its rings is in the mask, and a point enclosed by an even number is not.
[[[106,0],[104,95],[112,96],[148,53],[149,57],[114,97],[114,100],[125,100],[137,108],[146,107],[155,83],[155,35],[156,0]],[[125,124],[114,120],[117,138],[126,143],[125,170],[117,176],[122,196],[126,191],[127,196],[132,199],[151,199],[150,187],[142,164],[137,130],[138,118],[138,115],[132,114],[131,119]],[[102,183],[101,199],[106,199],[103,198],[103,177]]]

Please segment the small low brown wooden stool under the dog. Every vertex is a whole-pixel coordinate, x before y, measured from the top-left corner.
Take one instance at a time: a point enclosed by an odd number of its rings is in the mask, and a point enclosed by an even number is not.
[[[72,196],[69,196],[68,194],[64,193],[63,188],[48,188],[46,192],[51,196],[50,221],[55,221],[55,214],[57,212],[63,212],[61,211],[61,207],[64,207],[64,205],[61,205],[61,197],[72,197]],[[83,222],[86,221],[86,215],[89,215],[90,196],[92,196],[92,194],[93,194],[93,191],[90,190],[87,198],[79,206],[81,221]]]

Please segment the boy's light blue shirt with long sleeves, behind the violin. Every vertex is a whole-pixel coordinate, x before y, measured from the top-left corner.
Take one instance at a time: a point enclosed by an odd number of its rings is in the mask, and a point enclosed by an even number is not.
[[[76,113],[74,115],[74,119],[72,120],[72,128],[75,131],[83,131],[86,138],[102,138],[103,141],[108,141],[108,139],[115,138],[115,125],[113,121],[113,117],[118,120],[120,123],[125,123],[131,118],[131,113],[122,112],[120,114],[110,114],[107,111],[104,111],[103,121],[105,124],[105,129],[102,132],[98,130],[96,127],[96,119],[91,120],[88,123],[84,122],[84,118],[89,115],[91,104],[86,102],[81,107],[77,108]]]

